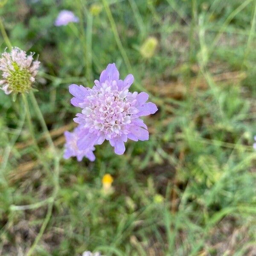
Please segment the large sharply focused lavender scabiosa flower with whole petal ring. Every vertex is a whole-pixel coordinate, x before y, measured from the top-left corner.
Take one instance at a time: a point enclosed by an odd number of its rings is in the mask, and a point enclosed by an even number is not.
[[[102,71],[92,89],[70,85],[70,93],[75,96],[71,103],[82,108],[81,113],[74,118],[82,127],[77,142],[80,150],[108,140],[116,154],[123,154],[124,142],[128,139],[148,140],[147,126],[140,117],[155,113],[157,106],[151,102],[146,103],[147,93],[128,91],[133,81],[131,74],[120,80],[113,63]]]

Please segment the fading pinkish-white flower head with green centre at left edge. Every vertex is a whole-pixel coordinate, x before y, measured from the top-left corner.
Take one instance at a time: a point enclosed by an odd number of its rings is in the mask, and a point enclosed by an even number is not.
[[[33,61],[33,53],[26,55],[23,50],[14,47],[11,52],[3,52],[0,57],[2,80],[1,89],[6,93],[27,92],[38,72],[40,61]]]

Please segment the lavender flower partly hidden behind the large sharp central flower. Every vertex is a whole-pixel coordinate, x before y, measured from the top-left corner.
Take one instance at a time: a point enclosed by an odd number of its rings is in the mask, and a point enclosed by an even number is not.
[[[95,150],[95,148],[93,146],[84,150],[79,150],[77,148],[76,143],[79,138],[79,132],[81,132],[81,125],[76,127],[73,132],[64,132],[66,137],[66,144],[64,145],[64,158],[68,159],[70,157],[76,157],[76,159],[80,162],[83,157],[87,157],[90,161],[94,161],[95,155],[93,154],[93,150]]]

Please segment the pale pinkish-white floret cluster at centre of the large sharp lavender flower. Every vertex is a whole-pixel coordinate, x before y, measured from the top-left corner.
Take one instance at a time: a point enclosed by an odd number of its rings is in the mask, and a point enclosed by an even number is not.
[[[128,89],[118,91],[115,81],[103,83],[99,91],[94,89],[81,104],[84,108],[84,128],[104,132],[108,139],[128,134],[131,115],[138,112],[135,102],[131,96],[128,97]]]

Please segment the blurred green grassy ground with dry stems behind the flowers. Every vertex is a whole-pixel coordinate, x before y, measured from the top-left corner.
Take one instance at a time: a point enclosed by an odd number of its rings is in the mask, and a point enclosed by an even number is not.
[[[39,256],[256,255],[255,0],[2,0],[0,7],[11,44],[39,54],[35,96],[60,157],[77,113],[68,85],[91,87],[108,63],[122,78],[133,73],[132,90],[147,90],[159,108],[145,118],[150,140],[128,142],[124,155],[104,143],[93,163],[61,159],[51,209],[56,183],[35,155],[21,97],[12,102],[0,92],[0,255],[26,255],[35,241]],[[55,27],[61,9],[80,23]],[[149,36],[158,44],[145,58]],[[6,43],[2,37],[2,51]],[[108,196],[105,173],[114,178]]]

